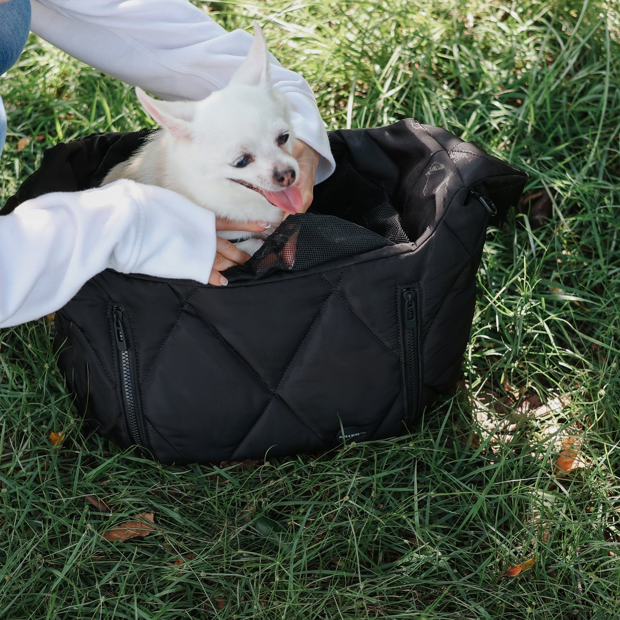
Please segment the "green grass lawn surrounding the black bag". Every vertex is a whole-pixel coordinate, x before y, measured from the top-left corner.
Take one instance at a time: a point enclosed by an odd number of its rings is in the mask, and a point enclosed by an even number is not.
[[[551,221],[530,230],[513,213],[489,232],[460,391],[410,436],[322,456],[162,467],[85,438],[51,328],[2,330],[0,617],[617,618],[616,4],[210,9],[228,28],[267,24],[329,128],[409,116],[444,126],[527,170],[529,190],[552,197]],[[130,87],[35,37],[0,87],[4,197],[57,141],[149,125]],[[20,138],[31,138],[22,151]],[[50,431],[66,433],[61,448]],[[556,477],[569,437],[583,467]],[[146,538],[98,535],[151,511]],[[283,544],[256,527],[260,516],[286,529]],[[498,581],[532,556],[531,569]]]

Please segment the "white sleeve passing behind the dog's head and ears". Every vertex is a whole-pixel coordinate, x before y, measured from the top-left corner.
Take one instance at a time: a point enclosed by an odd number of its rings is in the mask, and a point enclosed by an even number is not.
[[[162,99],[204,99],[226,84],[252,37],[226,32],[188,0],[31,0],[32,30],[74,58]],[[272,58],[299,139],[321,155],[316,182],[334,158],[308,83]]]

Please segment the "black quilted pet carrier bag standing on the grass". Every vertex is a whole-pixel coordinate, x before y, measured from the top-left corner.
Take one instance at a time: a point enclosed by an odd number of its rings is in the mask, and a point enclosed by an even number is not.
[[[99,185],[149,132],[58,144],[3,213]],[[164,463],[317,452],[407,432],[454,387],[489,221],[526,174],[402,120],[335,131],[337,168],[229,285],[106,270],[56,313],[92,428]]]

